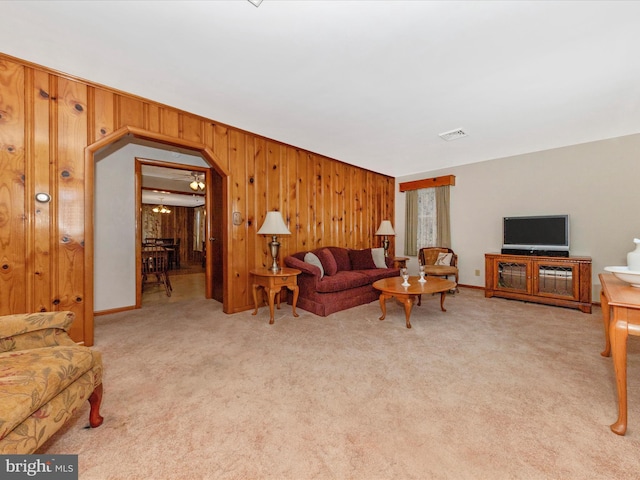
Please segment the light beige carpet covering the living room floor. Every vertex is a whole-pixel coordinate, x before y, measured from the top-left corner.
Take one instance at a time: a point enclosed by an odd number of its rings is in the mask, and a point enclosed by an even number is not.
[[[629,429],[601,312],[423,299],[405,328],[377,302],[327,318],[226,315],[192,299],[96,318],[104,425],[88,406],[40,453],[82,480],[640,477],[640,340]]]

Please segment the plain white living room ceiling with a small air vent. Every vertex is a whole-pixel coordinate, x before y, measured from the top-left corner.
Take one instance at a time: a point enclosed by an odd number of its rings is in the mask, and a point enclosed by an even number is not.
[[[2,1],[0,18],[3,53],[391,176],[640,132],[635,1]]]

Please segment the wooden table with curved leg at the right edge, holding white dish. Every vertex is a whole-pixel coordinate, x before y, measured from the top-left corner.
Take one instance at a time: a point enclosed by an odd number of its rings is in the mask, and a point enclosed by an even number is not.
[[[601,355],[608,357],[613,352],[618,390],[618,419],[611,430],[624,435],[627,432],[627,338],[640,335],[640,289],[610,273],[601,273],[598,277],[602,285],[600,301],[605,339]]]

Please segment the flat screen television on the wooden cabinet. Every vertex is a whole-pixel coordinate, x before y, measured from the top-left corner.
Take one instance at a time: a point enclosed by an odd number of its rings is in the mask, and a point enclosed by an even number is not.
[[[503,250],[569,251],[569,215],[503,218]]]

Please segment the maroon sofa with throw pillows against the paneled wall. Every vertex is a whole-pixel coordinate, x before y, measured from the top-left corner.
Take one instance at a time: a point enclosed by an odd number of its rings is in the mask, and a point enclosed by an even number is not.
[[[370,248],[322,247],[311,250],[320,260],[322,269],[304,261],[307,253],[294,253],[285,257],[284,263],[302,271],[298,275],[300,293],[297,306],[322,317],[377,300],[380,292],[372,287],[373,282],[400,274],[398,268],[391,267],[392,262],[388,258],[383,259],[387,268],[378,268]],[[378,265],[381,265],[379,253],[376,252],[376,256]]]

